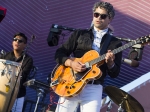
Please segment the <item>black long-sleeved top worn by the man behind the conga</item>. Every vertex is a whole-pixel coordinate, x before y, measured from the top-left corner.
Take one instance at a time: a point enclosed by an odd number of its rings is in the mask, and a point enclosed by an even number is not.
[[[23,59],[23,55],[19,59],[15,59],[14,52],[9,52],[6,53],[6,55],[2,55],[0,57],[1,59],[6,59],[10,61],[15,61],[15,62],[21,62]],[[33,66],[33,59],[29,55],[25,55],[23,64],[22,64],[22,74],[21,74],[21,80],[20,80],[20,87],[19,87],[19,92],[17,98],[23,97],[26,95],[26,87],[23,85],[24,82],[26,82],[26,79],[30,73],[30,70],[32,69]]]

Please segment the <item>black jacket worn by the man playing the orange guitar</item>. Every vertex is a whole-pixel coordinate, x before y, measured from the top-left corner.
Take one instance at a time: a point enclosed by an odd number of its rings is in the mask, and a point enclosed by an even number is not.
[[[108,33],[105,34],[101,41],[101,46],[104,43],[105,37],[109,35]],[[122,46],[121,41],[117,38],[111,36],[112,39],[110,41],[109,46],[107,46],[107,50],[114,50]],[[57,49],[55,53],[56,62],[59,64],[64,64],[65,61],[69,58],[70,54],[73,53],[74,57],[81,58],[86,52],[92,50],[92,44],[94,40],[94,35],[92,29],[90,30],[77,30],[75,31],[70,38],[60,47]],[[100,66],[100,70],[102,71],[103,75],[97,81],[102,84],[104,78],[108,74],[110,77],[115,78],[119,75],[120,66],[122,60],[122,52],[115,54],[115,66],[108,69],[106,63]]]

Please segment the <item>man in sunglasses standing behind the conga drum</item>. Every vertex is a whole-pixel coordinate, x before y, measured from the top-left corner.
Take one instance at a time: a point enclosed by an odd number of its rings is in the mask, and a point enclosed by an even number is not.
[[[27,37],[25,36],[25,34],[23,33],[15,34],[13,37],[12,46],[13,51],[8,52],[5,55],[2,55],[0,58],[15,61],[18,63],[21,63],[23,61],[21,65],[22,73],[21,73],[20,87],[17,99],[15,100],[15,103],[12,108],[12,112],[22,112],[24,96],[26,95],[26,88],[25,86],[23,86],[23,83],[26,82],[26,79],[33,66],[33,59],[24,51],[27,46]]]

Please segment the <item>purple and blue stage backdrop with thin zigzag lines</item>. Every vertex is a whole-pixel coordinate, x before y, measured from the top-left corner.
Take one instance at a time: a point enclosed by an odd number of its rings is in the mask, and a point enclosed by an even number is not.
[[[50,47],[47,37],[52,24],[63,25],[75,29],[89,28],[92,21],[92,7],[98,0],[0,0],[0,5],[7,9],[5,18],[0,23],[0,50],[12,50],[12,39],[16,32],[23,32],[28,36],[36,36],[30,44],[28,53],[34,59],[38,68],[37,80],[47,82],[47,76],[56,65],[54,54],[56,49],[66,41],[69,31],[63,31],[59,44]],[[114,35],[136,39],[150,34],[150,2],[149,0],[105,0],[113,4],[116,16],[111,25]],[[127,58],[130,49],[124,50],[123,57]],[[150,71],[150,46],[145,46],[142,60],[137,68],[122,64],[118,78],[107,77],[106,85],[122,87]],[[36,101],[36,91],[27,89],[26,98]],[[44,102],[49,104],[48,93]],[[56,96],[56,95],[55,95]],[[104,94],[105,96],[105,94]],[[58,96],[54,101],[57,101]],[[54,105],[54,104],[53,104]],[[27,105],[29,107],[29,105]],[[34,107],[33,107],[34,109]],[[33,111],[32,109],[32,111]],[[26,111],[29,111],[26,108]]]

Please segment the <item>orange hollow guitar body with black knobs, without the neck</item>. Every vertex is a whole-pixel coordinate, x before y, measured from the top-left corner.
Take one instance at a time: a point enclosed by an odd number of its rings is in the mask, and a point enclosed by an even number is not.
[[[73,58],[74,61],[82,63],[89,62],[99,57],[99,53],[91,50],[84,54],[81,58]],[[104,60],[89,66],[86,71],[77,73],[71,67],[57,65],[52,72],[51,87],[56,94],[63,97],[72,97],[81,92],[84,86],[90,81],[98,79],[102,76],[102,72],[98,66],[102,65]]]

